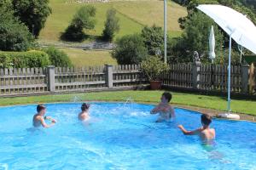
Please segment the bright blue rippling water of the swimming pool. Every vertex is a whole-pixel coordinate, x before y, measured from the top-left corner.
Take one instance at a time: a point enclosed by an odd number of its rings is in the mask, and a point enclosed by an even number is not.
[[[176,122],[155,123],[153,105],[92,103],[90,123],[80,104],[47,105],[57,123],[33,130],[36,105],[0,108],[0,169],[256,169],[256,123],[214,120],[212,147],[196,136],[200,114],[176,109]]]

